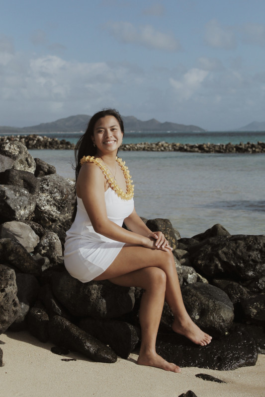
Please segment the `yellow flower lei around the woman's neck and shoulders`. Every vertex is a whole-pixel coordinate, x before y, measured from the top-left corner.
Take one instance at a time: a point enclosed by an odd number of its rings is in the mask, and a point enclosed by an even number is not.
[[[83,165],[85,163],[94,163],[96,165],[99,166],[99,168],[101,169],[101,171],[103,172],[108,185],[111,187],[112,190],[114,190],[114,192],[121,198],[124,200],[130,200],[133,198],[133,191],[134,191],[134,185],[132,185],[132,178],[130,175],[130,171],[128,170],[128,167],[126,167],[125,165],[125,161],[122,161],[121,158],[116,157],[116,162],[118,163],[118,165],[120,166],[123,175],[125,177],[125,181],[126,181],[126,193],[123,192],[122,189],[119,188],[115,178],[113,178],[113,176],[111,176],[109,170],[107,169],[107,167],[102,164],[102,162],[100,161],[99,158],[95,158],[94,156],[84,156],[81,161],[80,164]]]

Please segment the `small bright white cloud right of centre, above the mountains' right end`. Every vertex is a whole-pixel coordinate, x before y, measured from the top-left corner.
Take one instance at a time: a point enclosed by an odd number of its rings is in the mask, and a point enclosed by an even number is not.
[[[208,73],[206,70],[192,68],[180,80],[170,78],[170,84],[177,92],[177,100],[182,102],[190,99],[199,90]]]

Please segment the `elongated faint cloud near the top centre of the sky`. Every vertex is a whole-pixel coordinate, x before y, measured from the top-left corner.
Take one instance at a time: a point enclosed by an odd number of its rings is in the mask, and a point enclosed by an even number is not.
[[[140,44],[170,52],[181,49],[179,41],[172,34],[159,32],[151,25],[136,27],[130,22],[108,22],[105,28],[121,43]]]

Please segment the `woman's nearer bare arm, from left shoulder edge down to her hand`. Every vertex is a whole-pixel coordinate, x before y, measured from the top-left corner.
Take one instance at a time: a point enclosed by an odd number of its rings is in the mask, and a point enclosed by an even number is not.
[[[126,230],[107,218],[104,196],[105,178],[97,165],[85,163],[81,167],[77,181],[77,195],[83,200],[95,232],[123,243],[158,248],[155,245],[156,237],[148,228],[146,231],[149,231],[149,235],[148,233],[141,234]],[[138,228],[139,231],[140,229],[141,227]],[[166,248],[160,248],[166,250]]]

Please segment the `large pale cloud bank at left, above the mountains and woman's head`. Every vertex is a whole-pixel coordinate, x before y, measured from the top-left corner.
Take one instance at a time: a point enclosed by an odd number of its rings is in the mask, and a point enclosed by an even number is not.
[[[1,125],[23,127],[116,106],[119,95],[126,102],[128,92],[143,81],[143,70],[133,65],[69,62],[53,55],[11,57],[0,68]]]

